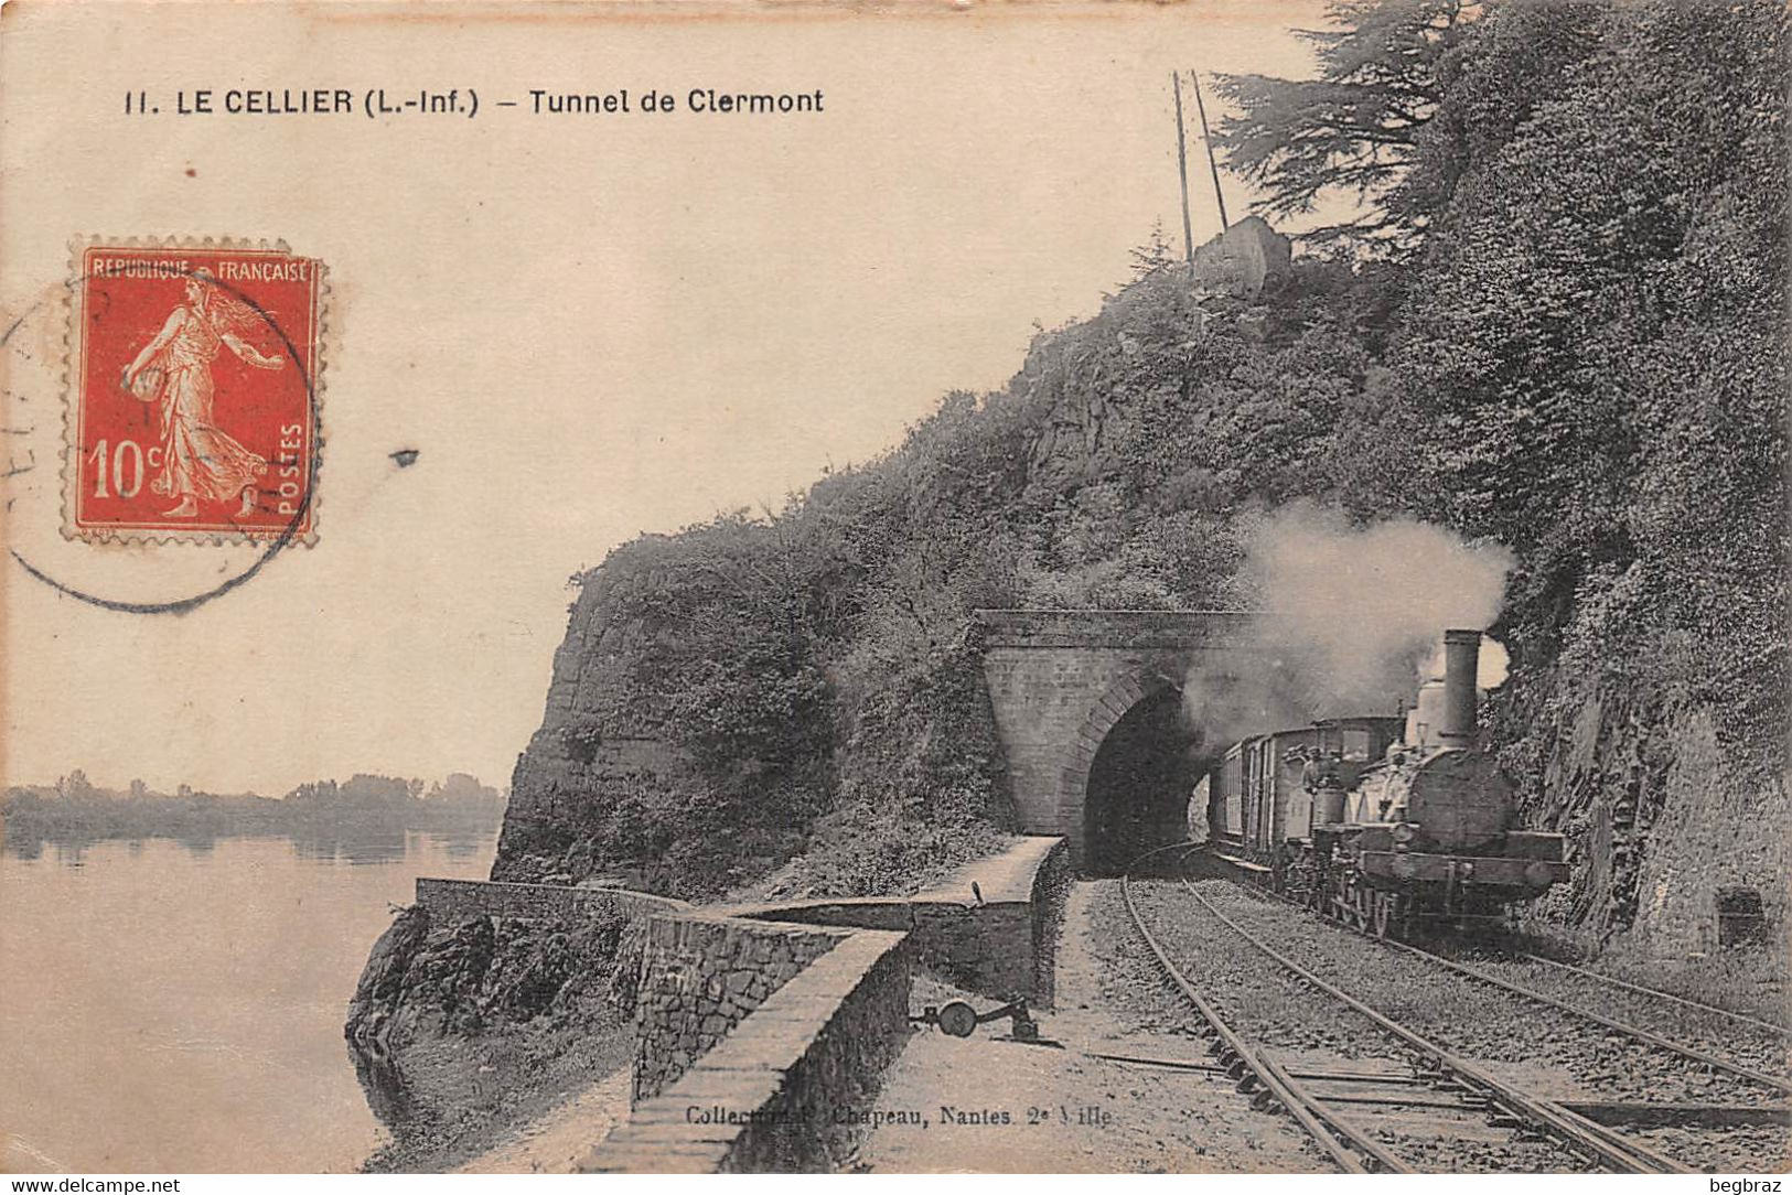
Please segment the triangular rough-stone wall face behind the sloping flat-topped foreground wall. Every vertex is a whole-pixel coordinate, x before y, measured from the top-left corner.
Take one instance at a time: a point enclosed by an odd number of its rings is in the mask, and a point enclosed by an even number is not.
[[[633,1098],[659,1095],[848,930],[713,914],[647,923],[634,1010]]]

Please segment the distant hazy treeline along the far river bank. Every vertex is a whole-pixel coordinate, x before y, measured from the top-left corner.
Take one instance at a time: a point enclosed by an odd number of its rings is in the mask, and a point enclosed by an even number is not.
[[[140,779],[100,788],[79,769],[56,785],[18,785],[0,801],[7,838],[152,838],[315,833],[323,828],[459,830],[496,826],[507,794],[466,772],[425,788],[421,779],[357,774],[299,785],[283,799],[253,792],[156,792]]]

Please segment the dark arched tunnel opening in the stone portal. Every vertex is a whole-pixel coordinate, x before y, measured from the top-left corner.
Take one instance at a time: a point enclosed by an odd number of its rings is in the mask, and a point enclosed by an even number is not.
[[[1084,871],[1116,876],[1145,851],[1186,838],[1188,797],[1208,767],[1181,690],[1159,690],[1127,709],[1090,765]]]

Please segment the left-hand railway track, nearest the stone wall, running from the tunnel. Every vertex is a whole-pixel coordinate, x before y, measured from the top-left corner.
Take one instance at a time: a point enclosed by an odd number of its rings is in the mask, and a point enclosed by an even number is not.
[[[1258,1104],[1287,1111],[1342,1170],[1688,1170],[1667,1154],[1514,1088],[1383,1016],[1276,951],[1213,907],[1193,885],[1181,885],[1206,919],[1208,932],[1197,935],[1197,941],[1204,939],[1211,946],[1213,926],[1222,926],[1222,933],[1242,939],[1251,950],[1176,951],[1174,937],[1190,932],[1186,917],[1168,919],[1167,935],[1154,933],[1142,903],[1161,905],[1161,892],[1142,901],[1134,894],[1133,878],[1125,876],[1120,889],[1133,924],[1170,984],[1201,1018],[1197,1030],[1210,1037],[1213,1053],[1240,1091]],[[1172,941],[1167,942],[1165,937]],[[1219,980],[1210,991],[1204,993],[1188,975],[1192,960],[1204,960],[1208,978]],[[1226,973],[1220,975],[1215,966]],[[1324,1021],[1331,1021],[1335,1030],[1340,1005],[1348,1010],[1346,1019],[1357,1023],[1357,1032],[1346,1036],[1351,1048],[1342,1064],[1303,1064],[1287,1048],[1288,1023],[1278,1018],[1299,1012],[1314,1021],[1314,993],[1330,998],[1333,1009],[1294,1037],[1305,1045],[1324,1041]],[[1362,1032],[1362,1021],[1373,1032]],[[1271,1037],[1279,1037],[1283,1048],[1265,1045]],[[1366,1039],[1374,1039],[1380,1053],[1367,1052],[1362,1046]],[[1412,1066],[1414,1057],[1419,1066]]]

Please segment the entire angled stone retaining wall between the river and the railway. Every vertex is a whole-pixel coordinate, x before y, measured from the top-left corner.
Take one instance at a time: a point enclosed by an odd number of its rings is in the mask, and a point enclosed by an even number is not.
[[[971,885],[977,885],[975,890]],[[446,916],[645,919],[634,1111],[588,1172],[837,1170],[835,1123],[909,1039],[918,964],[969,991],[1050,1005],[1068,855],[1021,838],[912,898],[692,910],[609,889],[419,880]]]

